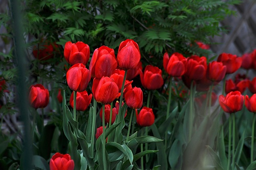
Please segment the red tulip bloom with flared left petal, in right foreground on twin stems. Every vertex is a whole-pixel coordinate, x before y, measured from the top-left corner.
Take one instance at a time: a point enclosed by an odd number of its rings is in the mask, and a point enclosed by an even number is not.
[[[227,96],[220,95],[219,103],[224,112],[234,113],[242,110],[244,104],[244,96],[238,92],[230,92]]]

